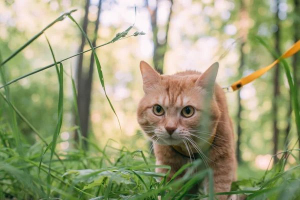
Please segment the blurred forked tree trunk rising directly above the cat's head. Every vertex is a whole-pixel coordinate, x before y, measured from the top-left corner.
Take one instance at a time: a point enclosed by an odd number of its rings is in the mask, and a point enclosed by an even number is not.
[[[164,37],[158,39],[158,30],[162,30],[162,27],[157,26],[157,7],[161,0],[156,0],[156,5],[153,9],[149,7],[148,0],[146,0],[146,7],[150,13],[151,29],[153,34],[154,52],[153,52],[153,64],[155,69],[162,74],[163,73],[163,62],[164,54],[167,48],[167,35],[169,30],[170,19],[172,15],[173,0],[169,0],[170,8],[168,12],[168,18],[165,25]]]

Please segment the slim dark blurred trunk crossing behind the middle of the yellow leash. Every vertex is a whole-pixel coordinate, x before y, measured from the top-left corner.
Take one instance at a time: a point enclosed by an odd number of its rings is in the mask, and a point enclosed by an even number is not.
[[[276,21],[276,25],[278,27],[277,31],[275,32],[275,49],[276,52],[278,54],[280,54],[280,50],[279,50],[279,41],[280,41],[280,19],[278,17],[278,13],[279,13],[279,3],[280,0],[276,0],[277,3],[277,11],[276,11],[276,15],[275,15],[275,21]],[[277,111],[278,111],[278,97],[279,97],[279,65],[277,64],[275,66],[275,70],[274,70],[274,76],[273,76],[273,102],[272,102],[272,117],[273,117],[273,143],[274,143],[274,148],[273,148],[273,154],[277,153],[278,150],[278,134],[279,134],[279,129],[277,127]],[[278,160],[277,156],[274,156],[274,162],[276,162]]]

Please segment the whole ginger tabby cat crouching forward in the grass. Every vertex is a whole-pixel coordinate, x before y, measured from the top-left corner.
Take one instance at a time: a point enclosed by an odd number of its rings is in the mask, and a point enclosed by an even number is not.
[[[193,153],[202,152],[203,162],[213,169],[214,192],[224,192],[230,191],[231,182],[236,179],[236,158],[225,94],[214,83],[217,69],[216,62],[203,74],[187,70],[160,75],[141,61],[144,96],[138,104],[137,120],[153,141],[156,164],[171,166],[168,179],[194,159]],[[203,132],[198,127],[209,81],[214,84],[210,101],[211,124],[210,131]],[[167,169],[156,168],[156,172],[166,173]],[[196,192],[198,185],[191,192]],[[216,197],[228,198],[227,195]]]

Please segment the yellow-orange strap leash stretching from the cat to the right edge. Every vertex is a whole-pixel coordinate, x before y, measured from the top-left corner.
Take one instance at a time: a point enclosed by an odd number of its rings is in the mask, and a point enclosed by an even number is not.
[[[287,58],[293,54],[295,54],[297,51],[300,50],[300,40],[298,40],[296,43],[294,43],[287,51],[285,51],[280,58],[276,59],[273,63],[271,63],[268,66],[265,66],[261,69],[258,69],[251,73],[250,75],[247,75],[246,77],[243,77],[237,81],[235,81],[233,84],[231,84],[228,87],[223,87],[225,91],[235,91],[239,88],[241,88],[243,85],[248,84],[249,82],[255,80],[256,78],[260,77],[262,74],[267,72],[269,69],[271,69],[275,64],[280,62],[281,58]]]

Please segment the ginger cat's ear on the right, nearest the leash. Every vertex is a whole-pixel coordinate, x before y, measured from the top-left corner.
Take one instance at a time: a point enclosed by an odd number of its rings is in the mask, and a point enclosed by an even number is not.
[[[196,84],[204,89],[209,89],[209,87],[214,88],[214,82],[218,70],[218,62],[214,62],[209,66],[206,71],[196,80]],[[212,89],[213,91],[213,89]]]

